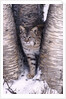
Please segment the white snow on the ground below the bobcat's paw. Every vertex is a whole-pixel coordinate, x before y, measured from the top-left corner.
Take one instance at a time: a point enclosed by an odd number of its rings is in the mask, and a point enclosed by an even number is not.
[[[38,71],[33,79],[27,79],[26,74],[9,84],[11,92],[16,94],[58,94],[56,90],[49,88],[46,81],[40,80],[41,71]],[[3,93],[14,94],[11,92],[8,90],[7,84],[4,83]]]

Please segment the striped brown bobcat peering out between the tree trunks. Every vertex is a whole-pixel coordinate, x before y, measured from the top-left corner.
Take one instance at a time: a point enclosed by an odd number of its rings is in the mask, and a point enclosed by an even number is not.
[[[39,27],[36,26],[27,33],[26,29],[23,26],[20,26],[20,39],[30,69],[27,77],[33,78],[36,73],[36,55],[39,55],[41,43],[41,32]]]

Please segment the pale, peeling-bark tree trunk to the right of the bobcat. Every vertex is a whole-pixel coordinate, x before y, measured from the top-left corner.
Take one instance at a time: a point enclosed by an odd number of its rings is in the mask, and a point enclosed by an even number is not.
[[[50,5],[43,35],[39,66],[41,78],[62,93],[63,86],[63,5]]]

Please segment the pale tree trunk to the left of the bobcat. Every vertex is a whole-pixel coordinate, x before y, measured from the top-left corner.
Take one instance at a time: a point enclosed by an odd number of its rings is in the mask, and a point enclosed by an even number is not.
[[[17,79],[19,74],[19,50],[13,14],[9,4],[3,5],[3,76],[5,81]]]

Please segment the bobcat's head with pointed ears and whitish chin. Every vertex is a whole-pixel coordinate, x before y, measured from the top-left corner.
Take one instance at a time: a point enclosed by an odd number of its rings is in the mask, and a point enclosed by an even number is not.
[[[23,27],[20,26],[20,39],[22,42],[22,45],[25,44],[27,46],[36,46],[37,44],[40,45],[41,41],[41,32],[39,31],[39,27],[36,26],[29,30],[27,30]]]

